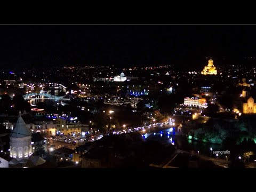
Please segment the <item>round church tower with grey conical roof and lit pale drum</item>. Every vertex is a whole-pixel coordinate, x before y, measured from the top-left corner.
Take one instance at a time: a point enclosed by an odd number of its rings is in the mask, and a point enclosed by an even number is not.
[[[26,123],[19,115],[18,121],[10,134],[10,157],[27,158],[32,155],[31,132],[26,127]]]

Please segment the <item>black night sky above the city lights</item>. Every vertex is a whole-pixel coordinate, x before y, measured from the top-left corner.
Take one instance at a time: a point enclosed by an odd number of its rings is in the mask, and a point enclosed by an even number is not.
[[[1,25],[0,66],[203,65],[256,56],[256,25]]]

